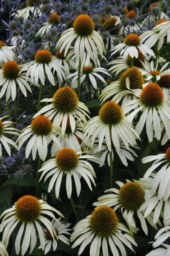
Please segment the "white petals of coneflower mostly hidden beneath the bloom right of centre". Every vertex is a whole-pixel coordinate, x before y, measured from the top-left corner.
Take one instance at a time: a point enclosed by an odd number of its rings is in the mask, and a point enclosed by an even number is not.
[[[114,154],[117,154],[118,157],[120,158],[121,162],[124,164],[124,166],[128,166],[127,164],[127,159],[130,160],[130,161],[134,161],[134,158],[132,156],[132,154],[135,156],[135,157],[138,157],[137,154],[135,153],[135,151],[132,149],[132,148],[135,148],[135,149],[140,149],[139,147],[137,146],[132,146],[132,145],[129,145],[129,149],[127,150],[126,146],[124,145],[124,142],[121,140],[121,138],[119,138],[119,141],[120,141],[120,151],[118,151],[115,146],[113,145],[113,143],[111,143],[111,146],[112,146],[112,160],[114,160]],[[96,142],[98,142],[96,140]],[[132,147],[132,148],[131,148]],[[94,147],[94,155],[98,152],[98,145],[95,145]],[[108,166],[110,167],[110,156],[109,156],[109,149],[107,148],[107,145],[106,145],[106,141],[103,140],[103,143],[102,143],[102,146],[101,146],[101,156],[100,156],[100,167],[104,165],[105,163],[105,159],[107,157],[107,163],[108,163]]]

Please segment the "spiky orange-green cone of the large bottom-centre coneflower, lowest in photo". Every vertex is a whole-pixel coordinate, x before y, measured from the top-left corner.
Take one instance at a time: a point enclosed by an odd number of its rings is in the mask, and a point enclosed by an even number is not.
[[[97,236],[112,236],[118,229],[118,217],[111,207],[99,206],[90,215],[89,226]]]

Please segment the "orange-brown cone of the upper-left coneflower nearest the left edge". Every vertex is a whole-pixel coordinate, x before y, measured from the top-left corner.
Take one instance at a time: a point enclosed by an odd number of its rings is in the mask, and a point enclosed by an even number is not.
[[[7,61],[3,66],[3,76],[7,79],[15,79],[20,73],[20,66],[15,61]]]

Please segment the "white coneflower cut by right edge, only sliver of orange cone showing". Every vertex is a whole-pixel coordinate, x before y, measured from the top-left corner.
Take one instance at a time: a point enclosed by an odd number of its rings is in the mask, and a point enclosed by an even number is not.
[[[161,200],[163,198],[164,201],[167,201],[170,197],[170,147],[167,148],[164,154],[144,157],[142,163],[148,163],[153,160],[152,166],[144,174],[144,179],[147,179],[153,171],[156,171],[158,166],[162,165],[153,178],[151,191],[155,193],[158,189],[158,199]]]

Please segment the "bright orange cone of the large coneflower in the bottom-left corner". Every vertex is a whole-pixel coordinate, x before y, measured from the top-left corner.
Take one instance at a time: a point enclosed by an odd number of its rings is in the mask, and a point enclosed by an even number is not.
[[[14,204],[14,212],[21,222],[33,222],[40,216],[42,209],[39,200],[32,195],[25,195]]]

